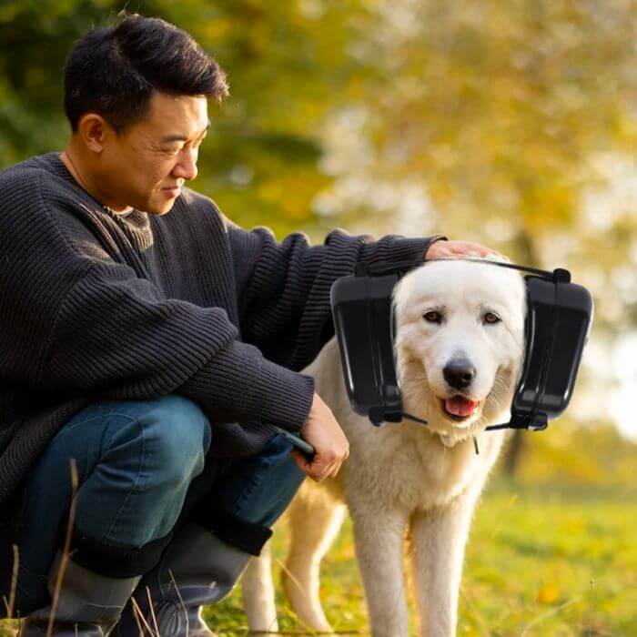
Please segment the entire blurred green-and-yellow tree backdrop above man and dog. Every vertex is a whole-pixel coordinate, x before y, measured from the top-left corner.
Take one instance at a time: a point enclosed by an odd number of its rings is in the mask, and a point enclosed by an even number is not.
[[[123,6],[0,2],[0,167],[63,147],[66,54]],[[598,350],[635,329],[634,0],[126,8],[185,28],[229,72],[195,187],[238,223],[479,240],[572,268]],[[596,374],[599,393],[612,378]]]

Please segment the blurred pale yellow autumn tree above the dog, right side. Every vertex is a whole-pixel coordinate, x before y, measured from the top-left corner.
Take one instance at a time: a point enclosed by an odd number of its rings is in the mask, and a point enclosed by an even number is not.
[[[595,297],[597,350],[622,348],[637,313],[634,2],[373,6],[350,47],[371,72],[328,123],[336,179],[319,213],[571,268]],[[579,382],[576,397],[598,397],[582,420],[606,409],[604,362]]]

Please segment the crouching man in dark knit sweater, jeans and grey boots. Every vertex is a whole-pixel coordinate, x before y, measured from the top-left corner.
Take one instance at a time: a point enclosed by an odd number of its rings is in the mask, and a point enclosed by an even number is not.
[[[27,637],[209,635],[201,604],[304,473],[348,456],[298,373],[333,334],[332,282],[359,260],[489,251],[339,231],[310,247],[230,223],[184,187],[225,75],[162,20],[89,32],[65,74],[66,150],[0,174],[0,590]]]

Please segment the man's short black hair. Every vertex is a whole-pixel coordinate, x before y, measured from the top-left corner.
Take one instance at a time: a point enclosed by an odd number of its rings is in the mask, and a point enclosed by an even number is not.
[[[225,71],[186,31],[156,17],[119,15],[91,29],[65,67],[65,111],[74,132],[97,113],[119,134],[148,116],[153,91],[175,96],[227,96]]]

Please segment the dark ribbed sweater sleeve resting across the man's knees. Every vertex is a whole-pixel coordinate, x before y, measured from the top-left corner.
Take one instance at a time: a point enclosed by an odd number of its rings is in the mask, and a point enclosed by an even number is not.
[[[39,384],[98,399],[175,392],[217,422],[259,420],[299,430],[313,379],[270,362],[237,337],[223,308],[163,298],[126,265],[93,262],[56,313]]]

